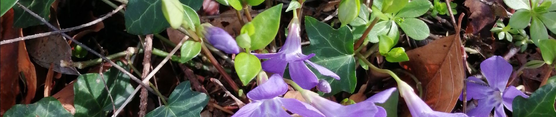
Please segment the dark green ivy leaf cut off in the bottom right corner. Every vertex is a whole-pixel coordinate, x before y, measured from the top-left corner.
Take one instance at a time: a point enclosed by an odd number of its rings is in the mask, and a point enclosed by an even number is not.
[[[556,99],[556,83],[550,83],[535,90],[529,98],[516,96],[512,102],[513,116],[534,117],[554,116],[554,99]]]

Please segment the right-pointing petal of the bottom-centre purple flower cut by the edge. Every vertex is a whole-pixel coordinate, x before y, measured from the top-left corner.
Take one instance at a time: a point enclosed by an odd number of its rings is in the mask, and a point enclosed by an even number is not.
[[[284,108],[286,108],[287,110],[291,111],[291,113],[296,113],[301,116],[307,116],[307,117],[324,116],[322,115],[322,113],[320,113],[319,110],[315,109],[313,106],[303,103],[297,99],[280,98],[280,97],[276,99],[282,101],[282,106],[284,106]]]

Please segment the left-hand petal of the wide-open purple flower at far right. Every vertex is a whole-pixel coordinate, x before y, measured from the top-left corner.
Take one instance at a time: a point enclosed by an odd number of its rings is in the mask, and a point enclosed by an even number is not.
[[[473,80],[474,82],[478,82],[478,83],[484,83],[483,80],[480,80],[479,78],[476,77],[469,77],[467,78],[468,80]],[[473,83],[473,82],[467,82],[467,100],[471,100],[471,98],[473,99],[483,99],[486,98],[486,96],[488,95],[488,92],[491,91],[495,91],[493,88],[482,85],[482,84],[477,84],[477,83]],[[460,97],[463,95],[460,95]],[[462,100],[463,98],[460,98],[460,100]]]

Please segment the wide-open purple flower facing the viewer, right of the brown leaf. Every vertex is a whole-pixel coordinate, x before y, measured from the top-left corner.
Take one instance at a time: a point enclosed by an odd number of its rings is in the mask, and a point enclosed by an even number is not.
[[[495,117],[506,116],[504,106],[512,111],[512,101],[515,96],[520,95],[529,98],[513,86],[506,88],[506,83],[512,74],[512,65],[504,58],[500,56],[490,57],[484,60],[480,67],[489,86],[483,85],[486,83],[479,78],[467,78],[474,82],[483,83],[467,83],[467,99],[473,98],[479,101],[477,107],[469,111],[469,116],[489,116],[493,108],[495,109]],[[460,99],[462,98],[460,97]]]

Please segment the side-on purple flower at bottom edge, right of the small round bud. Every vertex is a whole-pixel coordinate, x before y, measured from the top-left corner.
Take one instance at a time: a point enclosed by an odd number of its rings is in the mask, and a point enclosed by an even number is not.
[[[393,88],[395,90],[395,88]],[[385,96],[386,99],[392,94],[394,90],[386,90],[374,96]],[[351,105],[341,105],[330,101],[328,99],[322,98],[319,94],[316,94],[310,90],[301,89],[299,90],[305,101],[315,106],[322,114],[325,116],[369,116],[369,117],[384,117],[386,116],[386,110],[380,106],[376,106],[375,103],[384,103],[384,101],[378,100],[380,98],[374,98],[372,100],[361,101],[356,104]],[[371,97],[373,98],[373,97]],[[369,99],[371,99],[369,98]],[[377,100],[375,100],[377,99]]]

